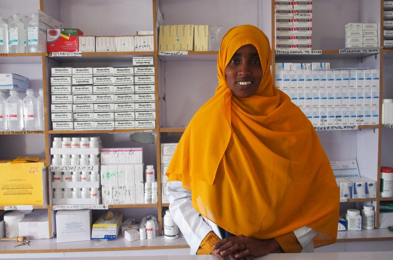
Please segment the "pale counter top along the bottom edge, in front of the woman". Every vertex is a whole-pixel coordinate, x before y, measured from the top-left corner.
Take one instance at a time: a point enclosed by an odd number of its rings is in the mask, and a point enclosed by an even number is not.
[[[255,260],[387,260],[392,259],[393,252],[348,252],[348,253],[306,253],[306,254],[270,254]],[[150,257],[103,257],[100,260],[157,260],[157,256]],[[30,258],[24,258],[30,259]],[[31,258],[32,260],[33,258]],[[58,260],[59,258],[45,258]],[[91,260],[91,258],[65,258],[72,260]],[[213,256],[160,256],[160,260],[219,260]]]

